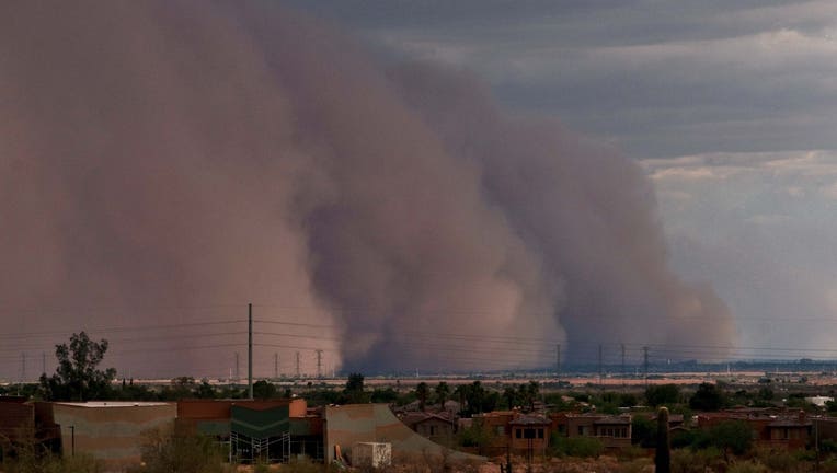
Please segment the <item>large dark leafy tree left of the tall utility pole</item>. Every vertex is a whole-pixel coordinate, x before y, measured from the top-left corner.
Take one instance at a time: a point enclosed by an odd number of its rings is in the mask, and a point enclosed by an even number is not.
[[[55,346],[58,359],[56,373],[41,376],[42,395],[47,401],[88,401],[106,397],[111,382],[116,378],[116,370],[96,367],[107,351],[107,341],[91,341],[88,334],[72,334],[70,345]]]

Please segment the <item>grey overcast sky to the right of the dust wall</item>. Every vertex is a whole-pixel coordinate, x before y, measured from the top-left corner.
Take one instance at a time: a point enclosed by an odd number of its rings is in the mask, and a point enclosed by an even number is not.
[[[638,160],[674,269],[726,301],[742,356],[837,355],[834,1],[291,3]]]

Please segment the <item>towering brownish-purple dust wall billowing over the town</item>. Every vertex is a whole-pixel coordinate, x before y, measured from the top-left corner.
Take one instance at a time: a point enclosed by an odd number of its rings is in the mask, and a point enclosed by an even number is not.
[[[632,162],[271,3],[5,2],[0,120],[0,378],[98,328],[123,373],[226,373],[249,301],[262,376],[734,338]]]

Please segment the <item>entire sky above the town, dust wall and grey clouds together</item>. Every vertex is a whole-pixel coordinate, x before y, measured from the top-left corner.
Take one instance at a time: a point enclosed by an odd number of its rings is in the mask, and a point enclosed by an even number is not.
[[[837,355],[834,7],[291,3],[0,5],[0,379]]]

